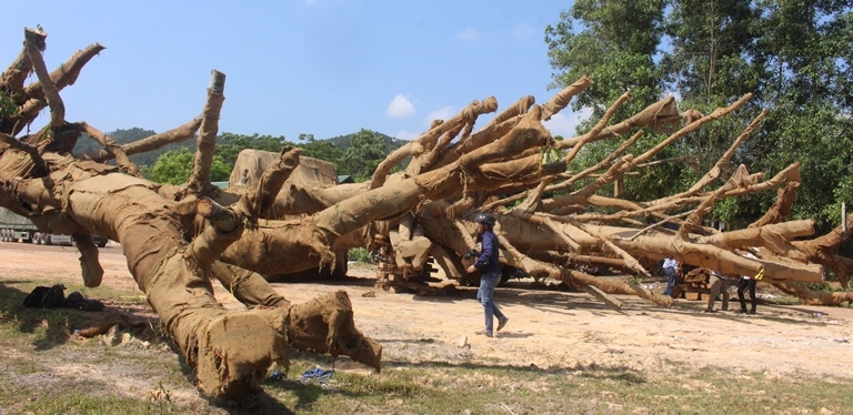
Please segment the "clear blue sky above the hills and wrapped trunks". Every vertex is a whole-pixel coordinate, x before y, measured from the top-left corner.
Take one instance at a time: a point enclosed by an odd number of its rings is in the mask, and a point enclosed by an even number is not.
[[[0,64],[23,28],[48,32],[49,70],[107,47],[62,92],[69,121],[162,132],[199,114],[227,75],[220,132],[328,139],[365,128],[411,140],[494,95],[499,111],[549,90],[544,28],[571,1],[32,1],[0,6]],[[491,117],[481,118],[478,125]],[[545,125],[573,135],[569,109]],[[41,126],[42,117],[38,122]]]

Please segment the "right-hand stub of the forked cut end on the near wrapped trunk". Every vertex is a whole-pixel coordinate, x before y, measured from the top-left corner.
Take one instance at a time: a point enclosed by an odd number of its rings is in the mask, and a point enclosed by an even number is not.
[[[290,308],[288,340],[293,348],[345,355],[379,372],[382,345],[355,328],[345,291],[313,298]]]

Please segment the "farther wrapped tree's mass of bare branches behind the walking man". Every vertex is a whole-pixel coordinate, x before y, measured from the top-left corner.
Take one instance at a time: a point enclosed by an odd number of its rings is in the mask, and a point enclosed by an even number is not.
[[[542,131],[541,121],[565,108],[573,95],[590,84],[592,81],[583,78],[544,105],[534,105],[534,99],[525,97],[472,133],[476,118],[496,109],[492,98],[474,101],[451,120],[434,122],[420,138],[390,154],[370,182],[325,188],[291,183],[279,193],[272,212],[310,215],[307,220],[332,215],[342,226],[333,232],[333,240],[325,241],[335,249],[375,247],[375,241],[389,241],[393,245],[393,261],[412,275],[417,275],[431,256],[446,275],[464,279],[461,259],[474,247],[473,217],[478,212],[489,211],[499,219],[496,232],[504,265],[538,279],[562,280],[578,289],[594,286],[605,293],[633,294],[670,305],[669,297],[636,284],[589,275],[575,265],[598,264],[648,276],[649,269],[660,260],[674,257],[684,264],[726,274],[761,273],[764,282],[811,304],[836,305],[850,301],[850,293],[815,293],[799,284],[820,282],[826,271],[832,270],[846,287],[851,270],[851,260],[834,253],[850,235],[843,232],[843,226],[819,239],[794,241],[813,236],[813,221],[783,222],[800,184],[799,164],[763,181],[761,173],[751,174],[743,165],[734,169],[726,180],[720,178],[724,165],[757,128],[766,110],[744,125],[743,133],[733,139],[714,166],[686,191],[651,201],[600,194],[610,184],[619,189],[621,181],[638,169],[666,162],[653,159],[668,145],[736,111],[751,94],[709,115],[695,110],[680,114],[674,99],[666,98],[609,125],[613,113],[630,99],[626,93],[586,133],[563,141],[552,140]],[[629,153],[644,128],[670,131],[670,134],[651,150],[639,155]],[[566,165],[585,144],[618,140],[630,133],[618,150],[598,164],[580,172],[566,171]],[[528,134],[541,136],[519,140]],[[568,153],[555,158],[558,150]],[[412,161],[404,171],[389,175],[394,165],[409,156]],[[423,190],[411,188],[424,178],[440,182]],[[712,188],[720,182],[716,189]],[[719,201],[773,190],[779,192],[776,203],[749,229],[722,233],[702,226],[704,214]],[[363,201],[359,198],[365,194],[370,195],[367,203],[357,202]],[[409,194],[418,199],[407,200]],[[549,194],[559,195],[544,198]],[[380,201],[388,202],[389,198],[398,206],[413,208],[397,210],[397,216],[385,211],[371,214],[374,203],[379,206]],[[337,208],[329,211],[331,206]],[[342,206],[347,209],[341,210]],[[615,212],[598,213],[602,210]],[[367,229],[360,229],[355,224],[360,226],[365,221],[357,217],[371,222]],[[853,215],[846,221],[847,227],[853,225]],[[294,226],[303,225],[300,222]],[[673,226],[678,230],[672,230]],[[290,249],[297,243],[290,241]],[[280,249],[288,250],[283,245]],[[745,255],[747,251],[754,252],[755,259]],[[249,252],[229,252],[224,261],[244,261]],[[317,251],[307,252],[317,254]],[[323,261],[322,255],[301,256],[303,261],[282,264],[264,261],[263,256],[258,255],[252,265],[247,266],[263,274],[275,274],[317,267],[318,262]]]

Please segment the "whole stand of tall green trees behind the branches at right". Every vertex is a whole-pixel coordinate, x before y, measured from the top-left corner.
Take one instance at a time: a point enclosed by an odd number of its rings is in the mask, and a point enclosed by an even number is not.
[[[623,115],[669,94],[679,98],[682,110],[709,113],[752,92],[754,99],[734,117],[661,155],[695,160],[695,170],[670,163],[644,171],[642,179],[626,183],[628,198],[648,200],[663,194],[662,188],[665,193],[683,189],[761,108],[769,108],[761,131],[730,169],[743,163],[774,174],[801,162],[803,182],[792,219],[813,217],[819,232],[825,232],[840,222],[841,203],[853,202],[852,9],[849,0],[579,0],[545,29],[556,70],[553,87],[582,74],[596,82],[574,102],[575,110],[592,109],[581,130],[625,90],[633,99]],[[659,140],[648,134],[635,152]],[[601,160],[614,145],[615,140],[594,143],[579,162]],[[709,220],[743,225],[772,198],[722,203]]]

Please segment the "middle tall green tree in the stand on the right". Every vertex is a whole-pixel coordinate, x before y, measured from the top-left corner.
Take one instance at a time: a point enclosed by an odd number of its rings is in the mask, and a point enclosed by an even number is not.
[[[682,0],[672,1],[669,8],[664,33],[670,48],[663,53],[661,69],[668,90],[681,98],[681,108],[710,113],[745,93],[754,95],[745,111],[690,134],[673,149],[680,151],[676,156],[690,156],[698,171],[711,169],[763,107],[765,72],[755,51],[760,14],[750,2],[739,0]],[[721,176],[730,176],[737,165],[721,166]],[[735,214],[743,213],[739,208],[737,203],[716,206],[712,219],[732,222]],[[761,214],[761,210],[754,212]]]

